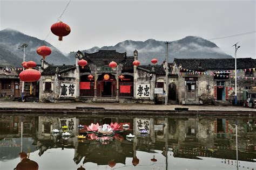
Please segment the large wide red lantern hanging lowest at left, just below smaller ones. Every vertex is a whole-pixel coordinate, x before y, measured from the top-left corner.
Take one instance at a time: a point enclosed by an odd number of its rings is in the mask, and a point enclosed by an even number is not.
[[[19,73],[19,79],[24,82],[38,81],[41,77],[41,73],[36,69],[26,69]]]

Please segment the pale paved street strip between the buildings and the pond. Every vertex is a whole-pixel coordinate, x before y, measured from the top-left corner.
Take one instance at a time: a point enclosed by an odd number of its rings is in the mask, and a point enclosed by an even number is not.
[[[100,107],[105,109],[123,110],[174,110],[174,108],[189,108],[188,110],[216,110],[216,111],[255,111],[256,109],[233,107],[233,106],[213,106],[213,105],[151,105],[137,103],[36,103],[36,102],[9,102],[0,101],[0,108],[61,108],[75,109],[76,107]]]

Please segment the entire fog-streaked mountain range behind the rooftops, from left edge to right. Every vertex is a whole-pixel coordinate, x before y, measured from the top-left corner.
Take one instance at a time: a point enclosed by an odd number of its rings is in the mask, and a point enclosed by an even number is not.
[[[18,47],[23,44],[29,44],[26,48],[26,61],[33,60],[38,64],[42,59],[36,53],[36,48],[44,45],[43,40],[25,35],[19,31],[5,29],[0,31],[0,65],[21,66],[23,52]],[[126,52],[127,56],[133,56],[133,51],[137,49],[138,59],[142,64],[150,63],[152,58],[157,58],[158,63],[165,60],[166,45],[164,41],[148,39],[146,41],[125,40],[114,46],[93,47],[90,49],[80,49],[87,53],[97,52],[99,49],[115,49],[117,52]],[[67,56],[61,53],[57,48],[45,42],[52,50],[46,61],[55,65],[75,64],[76,52],[70,52]],[[231,55],[225,54],[213,42],[200,37],[187,36],[183,39],[171,41],[169,45],[169,62],[174,58],[232,58]]]

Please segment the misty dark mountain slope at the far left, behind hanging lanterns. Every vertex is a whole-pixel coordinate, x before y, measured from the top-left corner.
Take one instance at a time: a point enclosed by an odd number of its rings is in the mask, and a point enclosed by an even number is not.
[[[26,61],[32,60],[37,64],[41,63],[42,56],[38,55],[36,49],[39,46],[49,46],[52,50],[51,55],[46,57],[46,61],[54,63],[55,65],[62,65],[63,63],[70,63],[70,59],[63,55],[57,48],[53,47],[48,42],[43,44],[43,40],[35,37],[25,35],[19,31],[12,29],[5,29],[0,31],[0,65],[14,65],[21,67],[23,61],[23,52],[18,49],[23,43],[28,44],[25,49]]]

